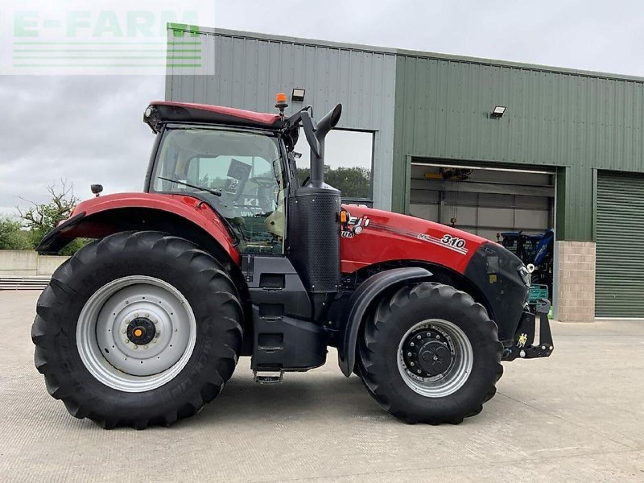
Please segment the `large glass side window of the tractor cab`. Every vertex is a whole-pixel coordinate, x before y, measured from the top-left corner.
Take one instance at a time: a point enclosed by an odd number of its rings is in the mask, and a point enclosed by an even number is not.
[[[164,134],[151,191],[198,194],[226,218],[246,253],[283,253],[284,180],[278,139],[231,129]]]

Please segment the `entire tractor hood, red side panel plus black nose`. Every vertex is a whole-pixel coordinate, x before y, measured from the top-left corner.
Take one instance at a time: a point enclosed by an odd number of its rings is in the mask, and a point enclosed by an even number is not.
[[[515,335],[529,281],[526,267],[514,254],[480,236],[414,216],[356,205],[343,205],[343,209],[343,273],[397,260],[446,267],[480,290],[499,327],[499,337]]]

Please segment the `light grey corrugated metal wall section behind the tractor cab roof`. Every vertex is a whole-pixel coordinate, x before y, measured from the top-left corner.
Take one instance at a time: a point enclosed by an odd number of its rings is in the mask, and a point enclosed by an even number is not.
[[[173,34],[169,30],[170,41]],[[303,88],[305,102],[294,103],[287,113],[312,104],[316,117],[341,102],[339,128],[375,131],[374,206],[390,209],[395,55],[205,28],[200,42],[205,62],[214,62],[205,68],[214,74],[169,67],[167,100],[273,112],[275,93],[290,98],[292,88]]]

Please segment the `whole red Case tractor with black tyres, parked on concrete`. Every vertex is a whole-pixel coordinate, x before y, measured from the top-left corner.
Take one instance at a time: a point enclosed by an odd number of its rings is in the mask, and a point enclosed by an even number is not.
[[[516,256],[342,205],[324,182],[341,106],[317,122],[310,106],[290,117],[286,106],[152,102],[144,192],[99,196],[93,185],[97,196],[45,236],[39,252],[96,239],[53,274],[32,327],[35,365],[72,415],[167,426],[213,400],[240,355],[273,383],[323,365],[332,346],[343,374],[395,417],[459,423],[493,397],[502,360],[551,354],[547,307],[527,310]]]

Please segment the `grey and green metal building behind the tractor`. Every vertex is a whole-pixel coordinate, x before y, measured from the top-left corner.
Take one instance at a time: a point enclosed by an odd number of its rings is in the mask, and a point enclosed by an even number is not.
[[[167,99],[271,111],[275,92],[297,88],[292,111],[343,102],[336,152],[368,171],[363,202],[491,239],[554,228],[559,319],[644,317],[644,79],[209,28],[198,38],[210,71],[169,67]],[[471,175],[446,181],[446,167]]]

